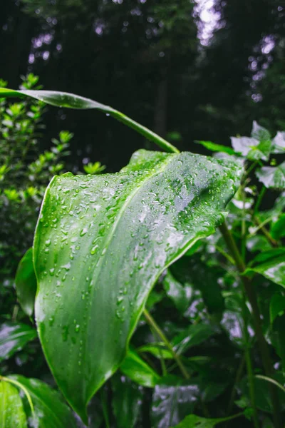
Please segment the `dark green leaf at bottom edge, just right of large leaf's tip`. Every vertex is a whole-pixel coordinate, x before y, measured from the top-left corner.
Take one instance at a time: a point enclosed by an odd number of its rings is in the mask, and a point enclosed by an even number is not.
[[[112,377],[112,407],[118,428],[136,426],[142,409],[142,388],[124,376]]]

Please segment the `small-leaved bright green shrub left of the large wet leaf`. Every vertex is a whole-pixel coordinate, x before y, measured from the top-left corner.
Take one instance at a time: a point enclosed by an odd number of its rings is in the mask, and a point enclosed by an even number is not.
[[[5,86],[0,81],[0,87]],[[41,88],[38,77],[29,74],[21,88]],[[51,149],[43,152],[44,112],[41,101],[8,103],[0,98],[0,272],[7,286],[19,259],[32,245],[43,193],[51,177],[63,172],[72,138],[68,131],[61,131]]]

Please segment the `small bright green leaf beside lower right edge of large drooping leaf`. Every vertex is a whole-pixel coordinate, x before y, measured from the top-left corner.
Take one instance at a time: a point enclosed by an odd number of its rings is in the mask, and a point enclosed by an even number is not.
[[[160,375],[133,350],[128,350],[120,371],[142,387],[153,388],[160,382]]]

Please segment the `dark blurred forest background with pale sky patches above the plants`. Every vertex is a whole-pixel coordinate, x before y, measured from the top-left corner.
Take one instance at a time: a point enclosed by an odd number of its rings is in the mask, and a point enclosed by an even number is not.
[[[227,144],[256,119],[285,129],[282,0],[1,0],[0,77],[109,104],[185,151]],[[115,171],[141,137],[94,111],[48,109],[46,144],[68,129],[72,167]],[[150,145],[145,148],[154,148]],[[74,168],[73,168],[74,170]]]

